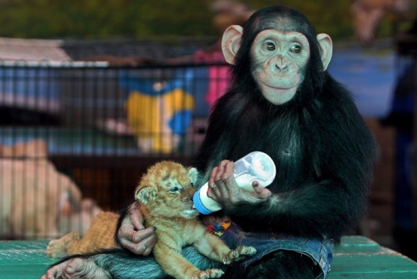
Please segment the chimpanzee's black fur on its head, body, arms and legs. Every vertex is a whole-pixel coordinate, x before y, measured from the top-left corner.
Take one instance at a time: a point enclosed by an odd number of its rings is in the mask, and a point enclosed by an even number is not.
[[[279,106],[263,97],[251,72],[250,46],[259,31],[270,28],[303,33],[311,47],[304,83]],[[276,198],[224,212],[246,231],[327,237],[337,243],[366,210],[375,142],[350,93],[323,71],[320,51],[313,26],[295,10],[265,8],[244,26],[231,88],[211,114],[195,166],[206,182],[222,159],[236,161],[254,150],[272,157],[277,176],[268,189]],[[200,259],[197,266],[210,263],[197,254],[189,255]],[[114,278],[161,278],[150,257],[107,253],[94,259]],[[314,278],[316,268],[306,256],[280,251],[252,264],[240,278]],[[232,277],[233,269],[226,278]]]

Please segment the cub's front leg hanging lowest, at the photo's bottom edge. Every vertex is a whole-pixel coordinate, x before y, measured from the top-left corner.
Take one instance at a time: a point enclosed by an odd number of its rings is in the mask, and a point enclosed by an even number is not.
[[[181,255],[178,247],[163,244],[161,241],[156,242],[153,252],[163,271],[176,279],[220,278],[224,274],[221,269],[197,269]]]

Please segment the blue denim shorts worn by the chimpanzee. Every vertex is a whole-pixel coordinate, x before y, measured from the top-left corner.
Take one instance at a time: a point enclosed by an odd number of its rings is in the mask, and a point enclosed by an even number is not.
[[[306,239],[289,234],[243,232],[234,223],[220,238],[231,249],[237,246],[254,246],[256,248],[255,255],[240,262],[241,271],[245,271],[247,266],[261,260],[261,257],[269,253],[277,250],[291,250],[310,257],[321,269],[316,278],[325,278],[333,260],[332,246],[327,239]]]

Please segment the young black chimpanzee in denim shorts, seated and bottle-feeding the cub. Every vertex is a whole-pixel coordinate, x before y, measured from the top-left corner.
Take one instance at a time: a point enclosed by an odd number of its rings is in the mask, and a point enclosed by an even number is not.
[[[195,166],[201,184],[209,180],[208,196],[223,210],[202,220],[213,229],[230,218],[232,223],[220,226],[222,239],[257,250],[226,277],[324,277],[332,262],[330,244],[366,210],[376,157],[373,136],[350,93],[326,72],[332,40],[316,35],[297,10],[273,6],[254,13],[243,27],[230,26],[222,47],[233,79],[211,113]],[[254,191],[243,191],[236,186],[233,161],[254,150],[272,157],[277,175],[268,188],[254,182]],[[120,244],[149,255],[152,228],[143,228],[134,207],[128,212],[120,219]],[[209,263],[185,251],[197,266]],[[67,260],[47,278],[62,273],[163,278],[151,256],[126,251]]]

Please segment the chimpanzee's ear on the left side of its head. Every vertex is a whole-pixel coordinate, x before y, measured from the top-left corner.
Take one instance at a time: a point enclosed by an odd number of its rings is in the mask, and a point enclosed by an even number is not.
[[[240,47],[240,39],[242,38],[243,27],[240,25],[232,25],[227,27],[223,33],[222,50],[226,62],[234,65],[234,59]]]

